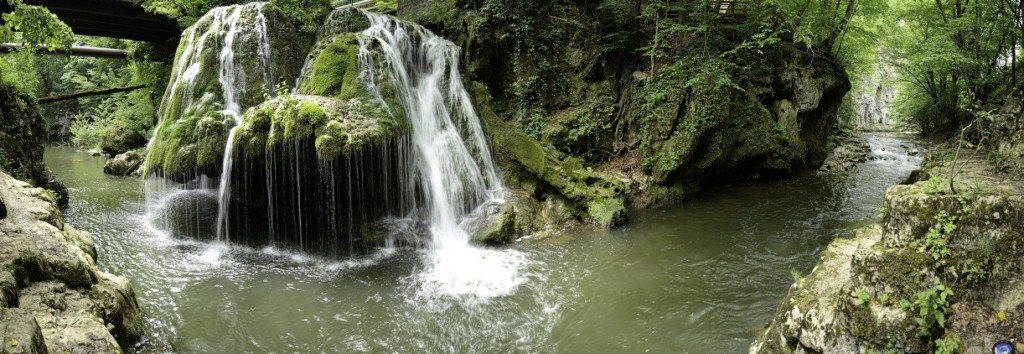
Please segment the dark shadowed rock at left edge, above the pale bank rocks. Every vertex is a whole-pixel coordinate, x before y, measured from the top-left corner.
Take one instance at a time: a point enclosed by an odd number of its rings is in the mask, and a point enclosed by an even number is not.
[[[29,95],[0,83],[0,171],[52,190],[68,206],[68,188],[43,163],[46,120]]]

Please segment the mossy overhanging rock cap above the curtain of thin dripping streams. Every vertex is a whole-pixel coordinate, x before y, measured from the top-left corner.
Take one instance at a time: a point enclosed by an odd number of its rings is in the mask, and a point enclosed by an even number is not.
[[[379,103],[324,96],[282,96],[249,109],[234,143],[250,157],[282,143],[314,139],[316,154],[330,160],[406,131],[403,120]]]

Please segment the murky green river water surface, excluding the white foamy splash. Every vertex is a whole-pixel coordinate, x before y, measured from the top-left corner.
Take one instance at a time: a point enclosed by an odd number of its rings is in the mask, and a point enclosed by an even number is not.
[[[920,164],[893,138],[836,175],[710,190],[612,231],[512,246],[521,283],[484,304],[424,296],[426,252],[326,260],[188,240],[145,227],[142,182],[63,148],[67,220],[100,266],[132,279],[138,352],[745,352],[793,281],[839,234],[874,221]],[[197,216],[202,218],[203,216]]]

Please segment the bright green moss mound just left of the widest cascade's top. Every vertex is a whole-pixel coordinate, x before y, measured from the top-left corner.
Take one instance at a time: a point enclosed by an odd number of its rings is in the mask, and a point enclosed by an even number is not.
[[[313,59],[309,77],[303,80],[299,92],[342,99],[362,97],[367,94],[358,77],[359,42],[353,34],[341,34]]]

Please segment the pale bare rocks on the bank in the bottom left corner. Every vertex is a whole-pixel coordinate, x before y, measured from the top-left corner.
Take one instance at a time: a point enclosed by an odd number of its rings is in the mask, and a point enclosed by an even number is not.
[[[101,271],[92,236],[66,225],[52,192],[0,172],[4,352],[113,353],[142,334],[131,283]]]

